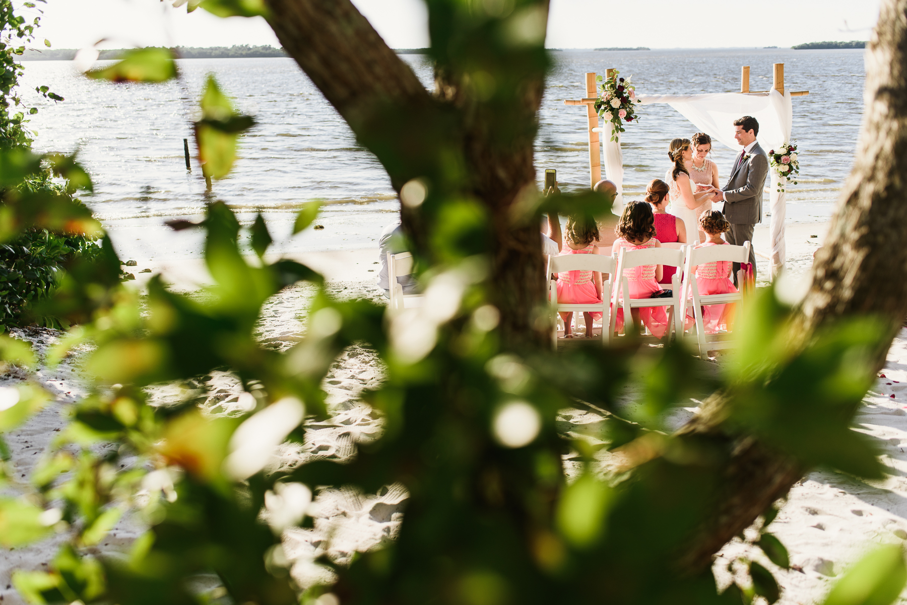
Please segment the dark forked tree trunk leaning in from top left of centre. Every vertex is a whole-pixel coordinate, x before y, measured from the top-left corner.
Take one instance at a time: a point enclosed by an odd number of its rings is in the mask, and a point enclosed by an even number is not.
[[[544,296],[538,228],[514,226],[511,210],[520,193],[534,187],[532,146],[543,71],[523,79],[519,102],[500,124],[500,111],[483,111],[463,90],[468,74],[439,76],[436,94],[425,91],[349,0],[268,5],[268,23],[280,43],[381,161],[397,193],[410,179],[424,178],[430,195],[471,197],[484,206],[498,286],[491,298],[501,312],[502,338],[511,348],[543,343],[546,323],[534,321]],[[514,136],[496,139],[507,128]],[[502,139],[506,144],[497,142]],[[466,177],[452,187],[445,173],[458,161]],[[436,261],[427,241],[430,212],[402,206],[401,216],[414,253]]]

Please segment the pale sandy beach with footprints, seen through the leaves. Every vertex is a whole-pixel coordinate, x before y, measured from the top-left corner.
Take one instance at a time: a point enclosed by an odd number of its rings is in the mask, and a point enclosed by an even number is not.
[[[812,264],[815,249],[824,242],[827,223],[801,223],[787,227],[787,258],[790,274],[804,280]],[[114,233],[114,237],[116,234]],[[768,226],[756,229],[756,249],[767,251]],[[377,274],[377,249],[360,249],[326,253],[290,254],[326,274],[328,289],[341,298],[368,298],[382,302],[384,296],[374,286]],[[160,272],[174,289],[196,290],[209,282],[203,263],[198,258],[170,257],[159,254],[153,261],[137,258],[130,270],[134,284],[141,287],[152,273]],[[767,261],[760,258],[760,281],[767,276]],[[263,346],[286,350],[305,334],[305,309],[312,286],[298,285],[279,293],[266,305],[258,337]],[[13,332],[29,341],[43,353],[62,332],[27,328]],[[44,448],[56,431],[65,424],[67,404],[83,395],[79,356],[66,360],[55,370],[42,367],[36,378],[55,395],[52,405],[31,418],[23,427],[6,436],[12,450],[15,481],[25,482]],[[889,475],[883,481],[867,483],[852,477],[826,471],[807,475],[791,491],[774,524],[774,532],[785,543],[794,567],[778,570],[761,552],[752,552],[745,543],[728,543],[720,553],[716,569],[739,556],[762,562],[781,581],[784,593],[781,603],[818,602],[834,582],[859,556],[874,543],[907,540],[907,330],[901,331],[889,352],[884,378],[876,381],[864,399],[856,418],[859,429],[873,437],[884,452],[883,462]],[[0,386],[15,384],[24,374],[13,371],[0,377]],[[272,467],[292,467],[309,460],[352,456],[356,443],[378,437],[381,419],[358,399],[362,389],[374,387],[382,379],[375,353],[361,347],[350,347],[336,360],[323,384],[328,394],[331,416],[324,421],[307,420],[306,441],[302,445],[281,448]],[[196,385],[201,387],[201,384]],[[209,398],[203,408],[214,416],[239,414],[239,381],[229,374],[214,372],[208,383]],[[631,395],[631,394],[630,394]],[[892,397],[893,396],[893,397]],[[180,389],[158,387],[151,390],[152,400],[165,402],[180,397]],[[678,423],[697,413],[696,402],[678,411]],[[598,423],[601,413],[594,408],[561,411],[561,428],[565,435]],[[104,447],[103,444],[101,447]],[[601,456],[600,471],[608,472],[610,455]],[[569,457],[569,456],[566,456]],[[572,463],[565,460],[568,475]],[[23,485],[5,487],[5,495],[21,494]],[[324,490],[317,493],[309,513],[316,518],[314,528],[292,528],[284,533],[284,550],[293,562],[292,574],[301,585],[329,578],[329,572],[313,560],[322,553],[336,562],[346,562],[356,551],[365,551],[393,540],[403,519],[406,493],[402,485],[388,485],[378,494],[364,495],[353,490]],[[143,531],[141,518],[126,517],[96,548],[101,556],[121,556]],[[0,561],[0,602],[24,601],[11,587],[11,574],[16,569],[46,569],[64,534],[41,543],[6,552]],[[718,574],[719,581],[730,581]],[[213,590],[204,582],[200,590]]]

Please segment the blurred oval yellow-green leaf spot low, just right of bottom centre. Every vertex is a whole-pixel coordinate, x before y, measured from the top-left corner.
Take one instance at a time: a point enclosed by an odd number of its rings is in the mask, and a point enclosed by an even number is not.
[[[558,504],[557,521],[567,541],[578,548],[588,548],[599,539],[613,501],[611,488],[589,473],[563,491]]]

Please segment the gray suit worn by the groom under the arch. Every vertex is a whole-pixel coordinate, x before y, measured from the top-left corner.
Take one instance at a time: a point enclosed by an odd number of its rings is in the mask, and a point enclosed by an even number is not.
[[[735,161],[736,163],[736,161]],[[731,172],[727,185],[721,187],[725,192],[725,218],[731,224],[731,230],[725,234],[728,244],[743,245],[750,242],[749,262],[753,264],[753,276],[756,277],[756,251],[752,247],[753,231],[756,223],[762,222],[762,192],[766,188],[768,176],[768,156],[759,147],[759,143],[750,149],[745,159]],[[734,282],[740,264],[734,264]]]

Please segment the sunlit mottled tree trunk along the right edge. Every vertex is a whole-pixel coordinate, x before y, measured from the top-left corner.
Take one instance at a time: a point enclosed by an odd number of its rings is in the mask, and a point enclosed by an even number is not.
[[[797,321],[804,343],[814,331],[847,315],[881,316],[889,327],[875,351],[883,368],[907,315],[907,0],[883,2],[866,53],[863,129],[853,171],[838,202],[825,245],[815,254],[813,284]],[[722,437],[727,399],[708,399],[681,434]],[[711,522],[679,566],[707,569],[724,544],[785,495],[805,472],[752,439],[733,445],[724,496]]]

